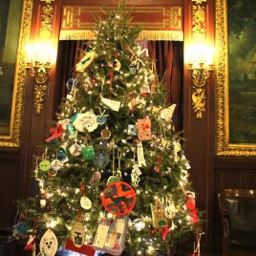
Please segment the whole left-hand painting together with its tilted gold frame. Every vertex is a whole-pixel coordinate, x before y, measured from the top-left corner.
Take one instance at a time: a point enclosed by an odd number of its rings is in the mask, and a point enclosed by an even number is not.
[[[0,147],[19,147],[32,0],[0,3]]]

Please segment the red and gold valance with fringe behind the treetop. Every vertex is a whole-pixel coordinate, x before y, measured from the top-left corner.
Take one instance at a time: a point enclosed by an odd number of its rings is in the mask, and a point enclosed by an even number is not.
[[[131,26],[141,26],[139,40],[183,41],[182,6],[127,7],[132,11]],[[63,6],[60,40],[95,39],[93,13],[102,15],[99,7]]]

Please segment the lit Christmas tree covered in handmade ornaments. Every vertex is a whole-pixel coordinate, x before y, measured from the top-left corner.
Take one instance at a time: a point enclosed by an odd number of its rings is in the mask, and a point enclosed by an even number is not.
[[[165,255],[199,225],[188,161],[155,60],[121,5],[97,17],[96,40],[68,80],[16,236],[85,255]],[[38,243],[36,243],[38,242]]]

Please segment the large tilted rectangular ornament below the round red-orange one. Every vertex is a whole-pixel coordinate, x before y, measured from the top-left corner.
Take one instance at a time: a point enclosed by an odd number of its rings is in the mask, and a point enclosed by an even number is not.
[[[112,223],[101,220],[96,230],[94,248],[110,255],[121,255],[126,241],[127,225],[128,216],[116,218]]]

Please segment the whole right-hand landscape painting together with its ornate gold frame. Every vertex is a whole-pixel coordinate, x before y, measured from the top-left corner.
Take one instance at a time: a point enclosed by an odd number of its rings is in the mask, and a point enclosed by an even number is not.
[[[217,156],[256,156],[256,1],[216,0]]]

